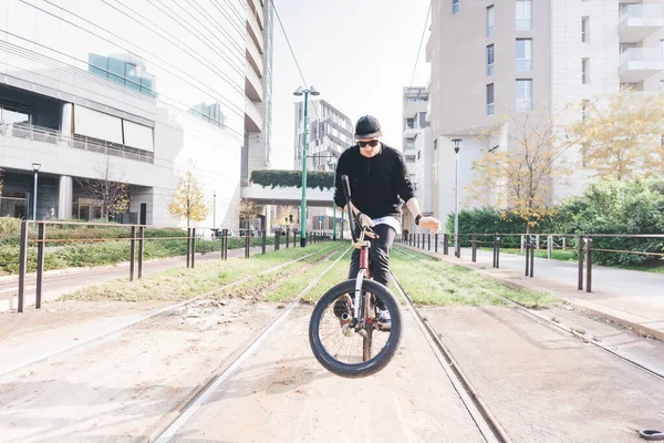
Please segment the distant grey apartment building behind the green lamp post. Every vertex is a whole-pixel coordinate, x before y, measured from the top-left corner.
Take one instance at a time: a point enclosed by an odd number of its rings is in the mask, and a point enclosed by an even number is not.
[[[294,104],[295,132],[293,168],[302,169],[304,146],[304,102]],[[334,171],[341,153],[355,144],[353,122],[324,100],[309,101],[309,135],[307,141],[307,171]],[[342,217],[338,209],[336,218]],[[308,229],[332,229],[333,208],[310,207]]]

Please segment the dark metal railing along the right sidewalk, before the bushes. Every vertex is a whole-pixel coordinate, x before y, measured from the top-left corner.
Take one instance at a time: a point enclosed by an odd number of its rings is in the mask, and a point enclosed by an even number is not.
[[[547,249],[547,258],[551,259],[554,250],[573,250],[578,256],[578,289],[585,289],[592,292],[592,269],[593,254],[626,254],[647,256],[652,259],[664,259],[664,235],[622,235],[622,234],[459,234],[457,236],[444,234],[408,234],[402,235],[397,241],[402,245],[411,246],[417,249],[432,250],[432,237],[434,241],[434,253],[438,253],[438,243],[442,239],[440,247],[443,255],[449,255],[450,245],[454,247],[454,255],[461,258],[461,246],[465,244],[470,247],[470,259],[477,262],[477,249],[492,249],[492,267],[500,268],[500,250],[505,246],[511,246],[525,254],[525,276],[535,277],[535,255],[537,250]],[[594,241],[601,239],[651,239],[651,246],[656,250],[629,250],[602,248],[593,246]],[[624,244],[623,244],[624,246]],[[651,248],[652,249],[652,248]]]

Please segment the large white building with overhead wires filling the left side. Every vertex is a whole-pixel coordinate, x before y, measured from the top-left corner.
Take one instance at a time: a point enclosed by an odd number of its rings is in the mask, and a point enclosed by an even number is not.
[[[242,178],[270,161],[267,0],[0,0],[2,216],[95,219],[81,179],[128,184],[117,219],[181,226],[167,206],[189,164],[200,226],[238,226]],[[212,204],[216,195],[216,204]]]

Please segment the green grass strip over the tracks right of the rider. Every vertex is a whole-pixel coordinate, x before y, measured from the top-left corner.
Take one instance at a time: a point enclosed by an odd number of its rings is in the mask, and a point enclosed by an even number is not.
[[[390,264],[396,278],[404,286],[413,301],[417,305],[434,306],[504,306],[500,299],[470,285],[475,284],[490,290],[508,300],[528,308],[543,308],[560,300],[550,293],[536,292],[526,289],[513,289],[492,278],[484,277],[470,269],[438,261],[424,254],[408,251],[407,254],[422,259],[419,261],[395,248]],[[445,270],[453,276],[440,272]],[[460,280],[463,278],[466,281]]]

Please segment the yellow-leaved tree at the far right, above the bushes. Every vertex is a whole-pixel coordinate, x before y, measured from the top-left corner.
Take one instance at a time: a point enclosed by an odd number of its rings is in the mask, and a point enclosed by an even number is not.
[[[587,167],[600,178],[630,179],[663,168],[664,94],[629,87],[584,105],[585,117],[571,127],[582,143]]]

